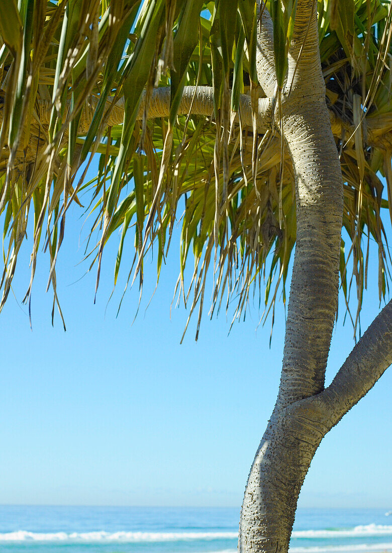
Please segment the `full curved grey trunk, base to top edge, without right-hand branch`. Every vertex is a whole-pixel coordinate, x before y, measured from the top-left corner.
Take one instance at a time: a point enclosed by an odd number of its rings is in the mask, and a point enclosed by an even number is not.
[[[268,13],[263,19],[259,80],[270,93],[273,42]],[[313,0],[298,3],[282,101],[284,138],[296,181],[296,249],[279,394],[245,489],[241,553],[288,550],[302,482],[331,427],[313,404],[296,409],[298,402],[324,389],[337,309],[343,213],[342,175],[325,103]]]

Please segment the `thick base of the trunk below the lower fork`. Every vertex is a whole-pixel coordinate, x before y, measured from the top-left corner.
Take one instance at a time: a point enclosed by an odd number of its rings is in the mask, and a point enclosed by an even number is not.
[[[297,499],[327,431],[312,409],[273,411],[256,453],[241,510],[241,553],[286,553]]]

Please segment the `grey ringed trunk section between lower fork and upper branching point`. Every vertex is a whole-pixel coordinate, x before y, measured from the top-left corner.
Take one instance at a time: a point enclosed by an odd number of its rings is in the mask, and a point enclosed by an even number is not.
[[[343,185],[328,116],[309,99],[284,118],[297,236],[278,403],[321,392],[337,309]]]

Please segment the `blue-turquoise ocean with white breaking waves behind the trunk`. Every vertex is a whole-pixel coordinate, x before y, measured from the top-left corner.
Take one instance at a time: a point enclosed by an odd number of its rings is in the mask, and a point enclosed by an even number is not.
[[[0,505],[1,553],[235,553],[238,508]],[[290,553],[392,551],[392,512],[298,509]]]

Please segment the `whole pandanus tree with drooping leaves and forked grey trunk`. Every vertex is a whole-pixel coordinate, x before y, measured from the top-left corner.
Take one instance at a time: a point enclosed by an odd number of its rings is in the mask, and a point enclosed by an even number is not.
[[[128,280],[142,286],[153,247],[159,278],[182,218],[176,289],[190,315],[198,307],[197,333],[208,275],[211,313],[236,299],[235,320],[265,290],[266,316],[280,290],[286,301],[294,252],[279,395],[245,489],[241,551],[288,550],[320,441],[392,363],[388,303],[325,387],[339,279],[354,335],[368,270],[380,301],[388,289],[391,35],[386,0],[2,1],[1,307],[30,217],[25,300],[41,245],[61,314],[56,259],[82,190],[100,230],[86,252],[97,286],[115,231],[114,283],[129,232]]]

